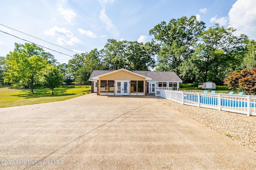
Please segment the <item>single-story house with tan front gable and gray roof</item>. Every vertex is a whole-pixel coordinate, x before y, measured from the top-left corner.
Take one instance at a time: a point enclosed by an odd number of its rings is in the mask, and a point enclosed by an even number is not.
[[[157,89],[178,90],[182,80],[175,72],[93,70],[89,81],[97,95],[147,95]]]

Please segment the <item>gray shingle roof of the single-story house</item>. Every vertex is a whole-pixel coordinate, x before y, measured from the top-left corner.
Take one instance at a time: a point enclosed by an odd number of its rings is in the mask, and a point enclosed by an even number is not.
[[[102,74],[112,72],[114,70],[93,70],[89,81],[92,81],[92,77],[96,77]],[[182,80],[177,76],[173,71],[132,71],[142,76],[152,78],[148,81],[157,81],[157,82],[182,82]]]

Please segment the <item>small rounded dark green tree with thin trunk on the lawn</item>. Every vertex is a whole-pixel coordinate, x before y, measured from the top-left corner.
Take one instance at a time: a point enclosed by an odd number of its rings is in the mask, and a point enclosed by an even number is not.
[[[61,70],[56,66],[48,65],[43,76],[44,86],[46,86],[46,88],[50,88],[53,95],[54,88],[58,87],[64,80]]]

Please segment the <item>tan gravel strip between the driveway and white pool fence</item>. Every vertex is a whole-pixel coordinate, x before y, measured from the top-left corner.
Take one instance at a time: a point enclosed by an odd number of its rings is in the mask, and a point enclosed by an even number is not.
[[[256,116],[182,105],[160,97],[157,99],[256,152]]]

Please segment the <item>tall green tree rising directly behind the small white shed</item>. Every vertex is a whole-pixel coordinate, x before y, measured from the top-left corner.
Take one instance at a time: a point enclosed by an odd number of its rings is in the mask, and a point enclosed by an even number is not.
[[[214,80],[221,84],[230,68],[230,61],[243,49],[244,39],[234,36],[234,31],[232,27],[225,29],[215,24],[199,35],[199,43],[191,61],[199,74],[204,74],[204,81]]]

